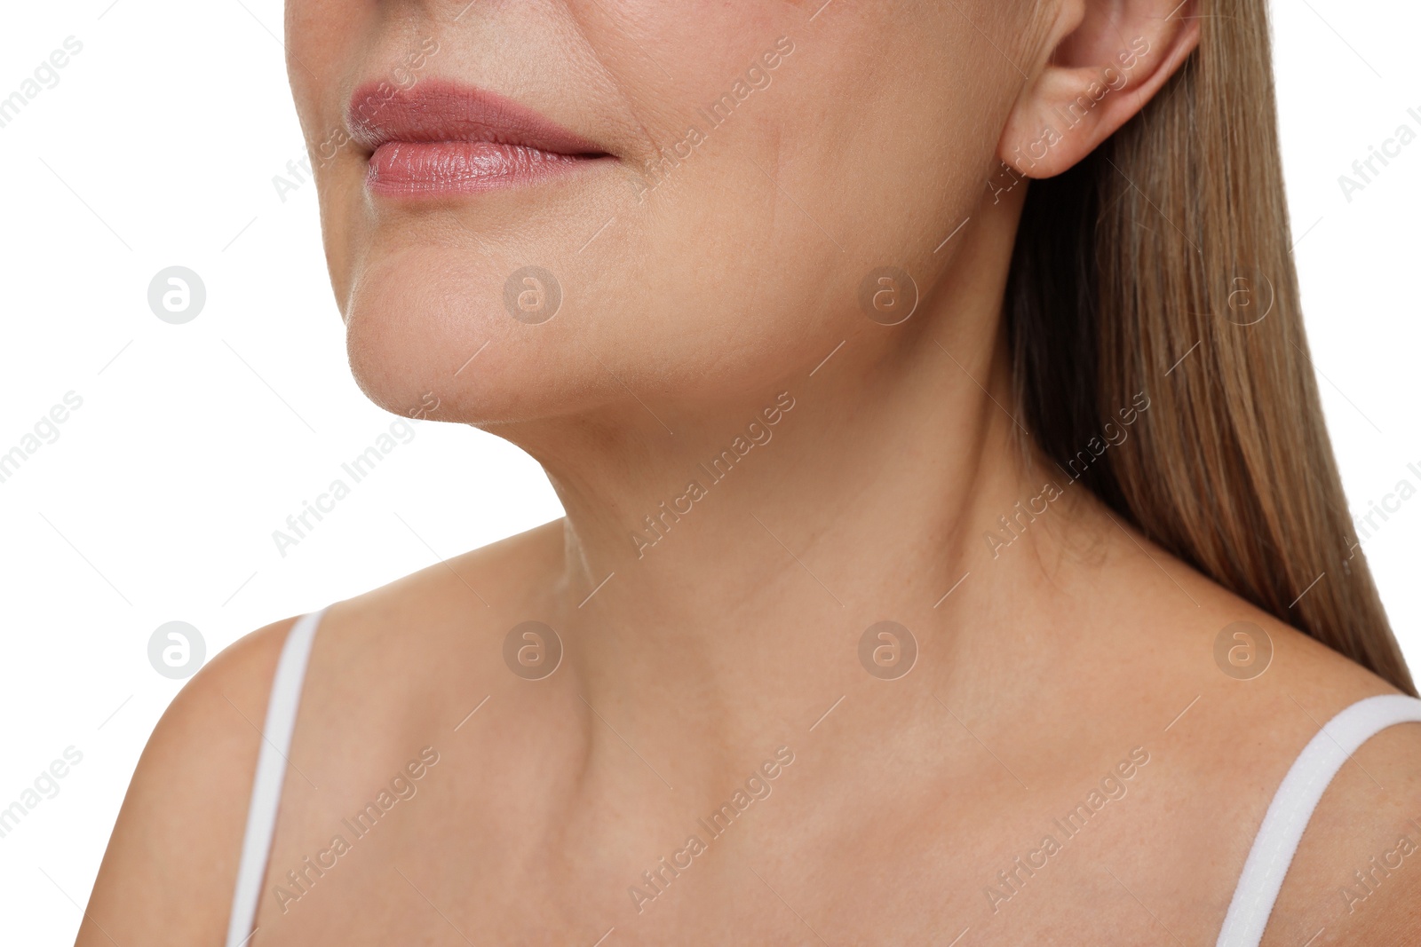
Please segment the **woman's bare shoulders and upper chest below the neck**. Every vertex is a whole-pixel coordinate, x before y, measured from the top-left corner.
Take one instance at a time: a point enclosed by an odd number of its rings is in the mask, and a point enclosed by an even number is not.
[[[456,944],[458,929],[473,943],[593,943],[615,927],[624,943],[817,943],[807,924],[828,943],[946,943],[966,927],[976,943],[1211,943],[1252,831],[1316,721],[1388,691],[1151,549],[1195,608],[1108,534],[1103,564],[1063,565],[1052,574],[1059,589],[1023,591],[971,643],[953,632],[962,613],[948,612],[919,636],[921,667],[897,681],[863,673],[851,628],[759,612],[750,623],[764,637],[730,652],[736,689],[716,693],[713,710],[695,696],[712,687],[723,652],[685,660],[679,635],[642,637],[641,667],[622,662],[637,686],[612,684],[583,647],[617,635],[595,612],[554,620],[566,667],[520,680],[499,659],[503,636],[526,615],[563,618],[566,602],[533,591],[556,585],[561,552],[563,530],[549,524],[331,608],[291,751],[261,941],[375,944],[398,933]],[[779,575],[813,585],[796,569]],[[483,609],[468,586],[519,592]],[[992,611],[966,584],[958,595],[966,615]],[[1047,605],[1064,613],[1042,613]],[[1273,666],[1249,681],[1212,662],[1216,630],[1241,618],[1276,646]],[[80,944],[107,943],[99,927],[119,944],[222,937],[257,751],[249,721],[264,713],[287,625],[226,652],[163,718]],[[674,653],[679,674],[658,660]],[[1417,730],[1384,731],[1339,774],[1265,944],[1303,943],[1323,927],[1314,943],[1414,934],[1414,873],[1395,872],[1353,914],[1337,890],[1356,887],[1351,870],[1395,835],[1414,838]],[[439,762],[412,799],[308,893],[273,893],[331,835],[352,839],[342,819],[426,745]],[[688,833],[709,839],[696,819],[780,745],[794,762],[772,794],[638,913],[627,889],[645,887],[641,873]],[[1060,836],[1052,821],[1135,747],[1150,761],[1128,794],[993,913],[983,892],[996,872],[1043,833]]]

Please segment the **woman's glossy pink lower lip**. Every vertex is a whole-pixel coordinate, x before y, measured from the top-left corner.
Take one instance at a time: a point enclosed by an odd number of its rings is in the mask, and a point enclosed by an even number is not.
[[[560,177],[597,160],[493,142],[387,142],[369,156],[365,186],[377,195],[475,195]]]

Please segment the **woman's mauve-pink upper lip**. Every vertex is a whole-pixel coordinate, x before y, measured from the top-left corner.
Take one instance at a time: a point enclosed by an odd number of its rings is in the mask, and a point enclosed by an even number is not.
[[[497,92],[435,78],[409,88],[364,82],[351,95],[345,122],[351,139],[371,152],[387,142],[490,142],[556,155],[607,153]]]

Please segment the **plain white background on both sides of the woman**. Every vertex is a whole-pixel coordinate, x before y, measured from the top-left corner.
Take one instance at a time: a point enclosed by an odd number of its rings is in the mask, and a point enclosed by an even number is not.
[[[388,430],[352,383],[304,155],[279,0],[10,4],[0,98],[84,44],[0,128],[0,453],[70,390],[82,407],[0,483],[0,808],[72,745],[82,762],[0,839],[0,941],[72,943],[144,743],[182,681],[148,639],[185,620],[210,657],[320,608],[560,515],[539,467],[425,423],[281,558],[271,531]],[[1400,124],[1421,132],[1421,9],[1277,0],[1296,258],[1353,513],[1421,484],[1421,141],[1347,202],[1337,177]],[[1417,115],[1407,109],[1415,108]],[[180,264],[207,302],[168,325],[149,280]],[[1421,673],[1421,497],[1367,554]],[[188,801],[190,804],[190,801]],[[128,946],[125,946],[128,947]]]

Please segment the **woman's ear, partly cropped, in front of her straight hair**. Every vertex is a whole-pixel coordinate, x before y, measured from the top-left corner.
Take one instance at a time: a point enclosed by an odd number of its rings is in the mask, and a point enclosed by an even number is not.
[[[1130,121],[1199,43],[1194,0],[1066,0],[1047,62],[1007,116],[998,158],[1026,177],[1061,173]]]

